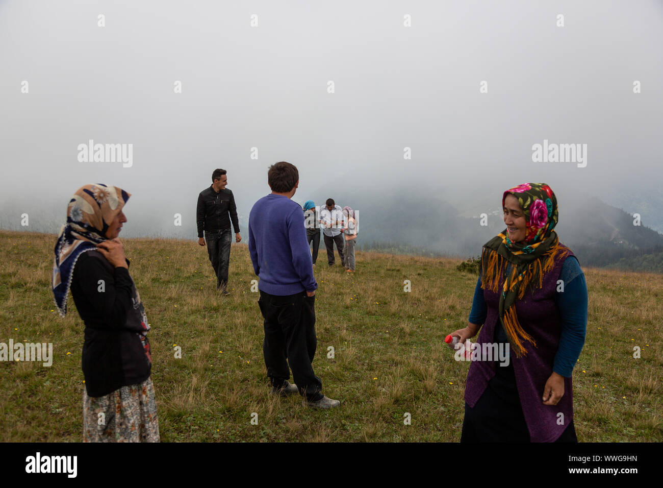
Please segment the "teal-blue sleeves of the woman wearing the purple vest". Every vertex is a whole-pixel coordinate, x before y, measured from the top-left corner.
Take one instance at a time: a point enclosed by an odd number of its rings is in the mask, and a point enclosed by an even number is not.
[[[510,268],[511,263],[507,266],[507,273]],[[555,301],[562,318],[562,335],[552,370],[562,376],[570,377],[573,366],[577,363],[580,351],[585,344],[585,334],[587,333],[587,283],[585,274],[574,256],[569,256],[562,264],[560,280],[564,281],[564,292],[558,292]],[[469,322],[483,325],[487,312],[487,304],[483,297],[483,289],[481,289],[481,274],[479,274],[479,280],[474,289]],[[500,321],[497,321],[495,326],[495,341],[508,342],[507,333]]]

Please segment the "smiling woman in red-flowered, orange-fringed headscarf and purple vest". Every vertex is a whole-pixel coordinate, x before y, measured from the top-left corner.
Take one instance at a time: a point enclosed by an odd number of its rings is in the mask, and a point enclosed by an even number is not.
[[[548,185],[507,190],[502,206],[507,228],[483,246],[467,327],[452,333],[469,343],[483,325],[461,442],[577,442],[572,371],[587,328],[585,276],[554,230]],[[487,354],[495,346],[509,353],[505,361]]]

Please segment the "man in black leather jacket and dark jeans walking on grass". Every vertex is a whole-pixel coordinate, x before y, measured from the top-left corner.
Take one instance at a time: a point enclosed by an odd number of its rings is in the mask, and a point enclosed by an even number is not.
[[[235,240],[239,235],[239,221],[233,192],[225,187],[228,183],[225,169],[215,169],[211,174],[211,185],[198,195],[196,222],[198,224],[198,244],[208,246],[211,267],[216,275],[216,287],[223,295],[228,295],[228,264],[230,262],[231,220],[235,228]],[[203,232],[204,236],[203,237]],[[206,242],[207,241],[207,242]]]

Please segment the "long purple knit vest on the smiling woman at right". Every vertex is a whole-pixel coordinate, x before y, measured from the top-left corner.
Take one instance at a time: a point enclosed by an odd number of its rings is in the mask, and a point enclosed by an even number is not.
[[[570,250],[569,256],[573,256]],[[572,378],[564,378],[564,396],[558,404],[544,405],[542,400],[544,386],[552,374],[562,333],[560,311],[555,303],[562,264],[564,259],[558,260],[554,268],[544,274],[543,286],[540,289],[532,293],[528,287],[524,297],[516,300],[518,321],[523,330],[536,341],[536,347],[529,341],[523,341],[527,350],[524,357],[516,358],[514,351],[511,351],[518,396],[531,442],[556,441],[573,420]],[[498,289],[501,290],[503,285],[504,276],[500,278]],[[484,289],[483,296],[488,311],[477,345],[493,342],[499,314],[499,293]],[[502,366],[495,361],[473,361],[469,366],[465,382],[465,402],[470,407],[474,407],[481,398],[489,380],[495,376],[495,368],[499,367]],[[564,423],[560,423],[562,420]]]

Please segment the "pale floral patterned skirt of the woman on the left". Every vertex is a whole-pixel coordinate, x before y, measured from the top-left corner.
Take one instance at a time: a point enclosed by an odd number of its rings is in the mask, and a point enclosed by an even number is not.
[[[152,378],[105,396],[83,388],[83,442],[159,442]]]

